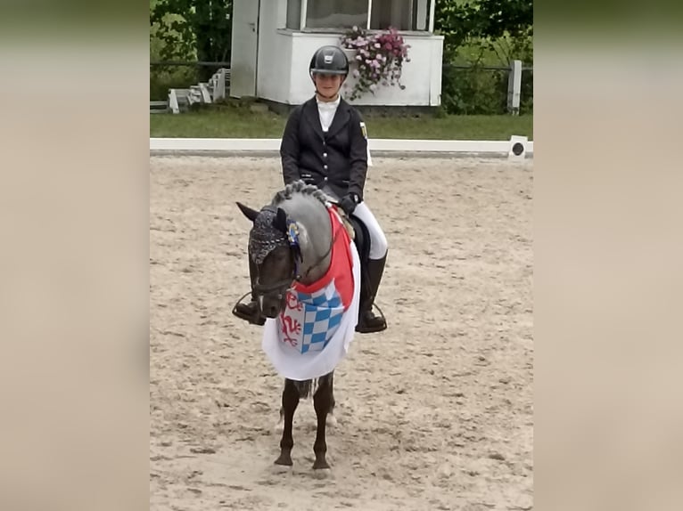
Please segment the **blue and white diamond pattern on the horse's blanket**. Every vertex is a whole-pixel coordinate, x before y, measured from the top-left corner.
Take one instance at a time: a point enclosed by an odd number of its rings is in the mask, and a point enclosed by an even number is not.
[[[322,351],[342,322],[344,313],[334,281],[311,295],[300,293],[299,301],[305,310],[301,353]]]

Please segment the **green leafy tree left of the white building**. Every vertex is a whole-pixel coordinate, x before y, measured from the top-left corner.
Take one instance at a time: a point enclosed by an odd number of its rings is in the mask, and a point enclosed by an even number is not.
[[[223,62],[230,58],[232,0],[156,0],[150,2],[150,25],[164,44],[164,60]],[[202,79],[211,76],[205,69]]]

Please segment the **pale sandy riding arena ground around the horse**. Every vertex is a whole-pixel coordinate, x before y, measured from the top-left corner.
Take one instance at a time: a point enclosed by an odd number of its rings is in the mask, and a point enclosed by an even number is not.
[[[249,289],[235,200],[263,206],[279,161],[151,158],[150,509],[531,509],[532,163],[374,164],[390,328],[336,370],[321,474],[312,401],[293,468],[273,465],[282,380],[231,314]]]

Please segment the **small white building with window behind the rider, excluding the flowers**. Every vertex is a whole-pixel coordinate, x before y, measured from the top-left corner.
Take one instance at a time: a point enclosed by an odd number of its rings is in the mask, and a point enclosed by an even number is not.
[[[408,49],[401,83],[350,101],[357,105],[440,105],[443,37],[433,33],[436,0],[235,0],[230,95],[297,105],[314,93],[309,62],[340,45],[352,26],[399,28]],[[353,68],[351,68],[353,69]],[[349,85],[354,78],[350,77]],[[348,93],[346,96],[348,97]]]

